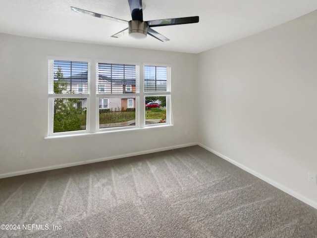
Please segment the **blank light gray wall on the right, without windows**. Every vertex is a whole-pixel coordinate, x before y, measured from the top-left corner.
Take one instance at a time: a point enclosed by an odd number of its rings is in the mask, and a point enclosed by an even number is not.
[[[201,144],[315,207],[316,22],[317,11],[201,53],[198,123]]]

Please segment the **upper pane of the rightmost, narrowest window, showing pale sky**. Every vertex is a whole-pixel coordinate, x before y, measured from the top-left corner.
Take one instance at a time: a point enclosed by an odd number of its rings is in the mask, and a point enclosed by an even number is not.
[[[166,92],[167,67],[144,66],[144,92]]]

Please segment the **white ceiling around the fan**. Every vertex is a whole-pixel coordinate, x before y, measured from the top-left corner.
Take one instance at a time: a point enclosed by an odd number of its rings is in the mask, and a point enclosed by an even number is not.
[[[70,6],[131,20],[127,0],[0,0],[0,32],[112,46],[198,53],[261,32],[317,9],[317,0],[143,0],[144,20],[196,16],[200,22],[153,28],[169,38],[110,37],[127,24]]]

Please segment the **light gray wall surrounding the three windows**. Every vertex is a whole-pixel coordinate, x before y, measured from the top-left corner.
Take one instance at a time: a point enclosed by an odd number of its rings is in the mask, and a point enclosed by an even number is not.
[[[6,34],[0,34],[0,42],[0,177],[197,142],[196,104],[191,95],[197,91],[198,55]],[[51,55],[170,64],[174,126],[45,140],[48,135],[47,56]],[[25,158],[19,157],[21,149],[26,150]]]

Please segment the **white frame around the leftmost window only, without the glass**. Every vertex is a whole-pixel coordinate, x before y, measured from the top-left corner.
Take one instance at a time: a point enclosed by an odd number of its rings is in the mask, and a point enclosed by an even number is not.
[[[48,56],[49,63],[49,123],[48,123],[48,136],[62,136],[71,134],[84,134],[90,131],[90,73],[91,73],[91,60],[86,58],[65,58],[65,57],[54,57]],[[87,80],[87,94],[54,94],[54,61],[64,60],[64,61],[78,61],[88,63],[88,80]],[[54,99],[55,98],[78,98],[86,99],[87,111],[86,111],[86,129],[79,131],[69,131],[69,132],[53,132],[54,130]]]

